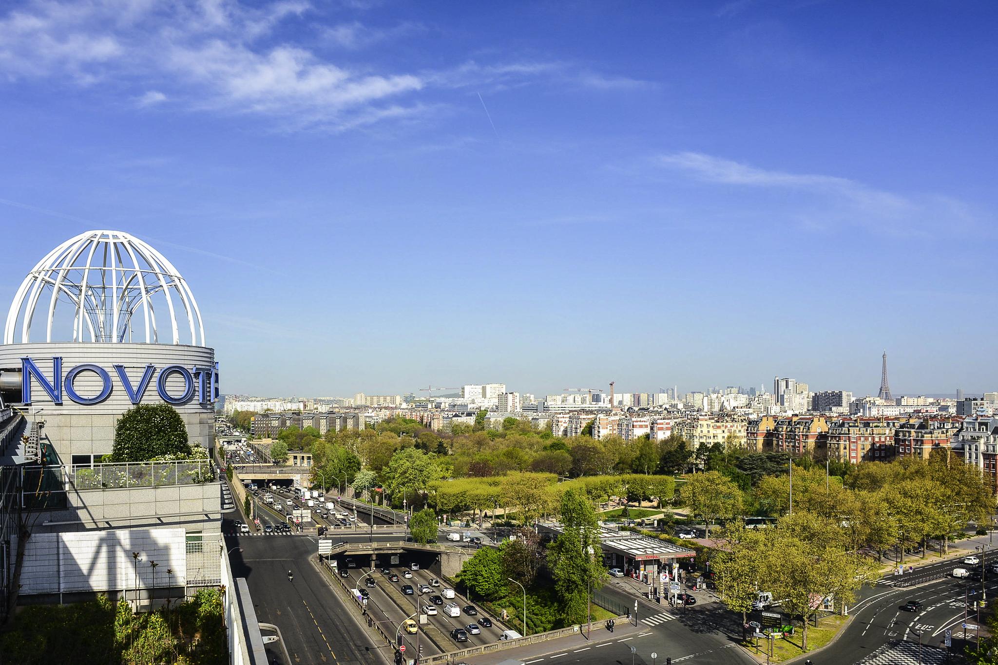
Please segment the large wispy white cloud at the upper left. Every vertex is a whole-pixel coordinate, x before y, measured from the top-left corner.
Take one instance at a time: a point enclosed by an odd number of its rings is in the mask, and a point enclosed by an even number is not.
[[[285,128],[344,131],[439,109],[427,89],[501,90],[562,81],[601,90],[640,85],[558,62],[487,63],[391,72],[332,62],[285,35],[310,11],[306,0],[247,6],[238,0],[26,0],[0,13],[0,85],[28,78],[115,85],[138,107],[168,99],[172,108],[281,119]],[[425,31],[417,23],[324,29],[327,43],[360,49]],[[320,29],[321,32],[321,29]],[[321,38],[323,34],[320,34]],[[155,90],[149,82],[155,81]],[[141,87],[140,87],[141,86]]]

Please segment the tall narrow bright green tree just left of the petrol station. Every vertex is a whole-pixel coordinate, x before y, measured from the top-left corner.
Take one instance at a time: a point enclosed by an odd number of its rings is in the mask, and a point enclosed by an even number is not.
[[[590,588],[607,579],[603,566],[596,512],[585,494],[568,490],[562,495],[561,521],[565,529],[548,548],[548,568],[561,602],[565,624],[582,623]]]

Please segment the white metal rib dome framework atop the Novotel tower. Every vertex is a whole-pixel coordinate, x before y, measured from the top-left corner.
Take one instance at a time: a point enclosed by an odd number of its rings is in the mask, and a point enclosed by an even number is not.
[[[88,334],[91,342],[142,341],[133,333],[144,331],[147,343],[159,343],[158,319],[165,324],[169,316],[169,343],[183,344],[178,317],[186,315],[190,343],[205,346],[201,310],[184,277],[163,254],[122,231],[87,231],[46,254],[14,296],[4,344],[29,343],[36,315],[46,322],[46,342],[63,341],[53,340],[60,302],[73,307],[74,342],[86,341]],[[163,333],[168,334],[166,325]]]

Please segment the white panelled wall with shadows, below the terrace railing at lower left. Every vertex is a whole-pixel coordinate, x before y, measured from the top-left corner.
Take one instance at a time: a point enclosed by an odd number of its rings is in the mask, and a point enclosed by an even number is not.
[[[35,533],[26,544],[21,593],[134,589],[140,552],[139,588],[183,584],[187,579],[183,528],[133,528],[79,533]],[[155,569],[150,561],[159,565]],[[173,575],[167,574],[167,569]]]

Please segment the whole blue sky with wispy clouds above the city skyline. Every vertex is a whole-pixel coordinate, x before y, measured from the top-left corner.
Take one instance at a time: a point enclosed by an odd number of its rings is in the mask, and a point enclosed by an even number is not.
[[[224,390],[994,390],[990,2],[0,9],[0,301],[88,228]]]

